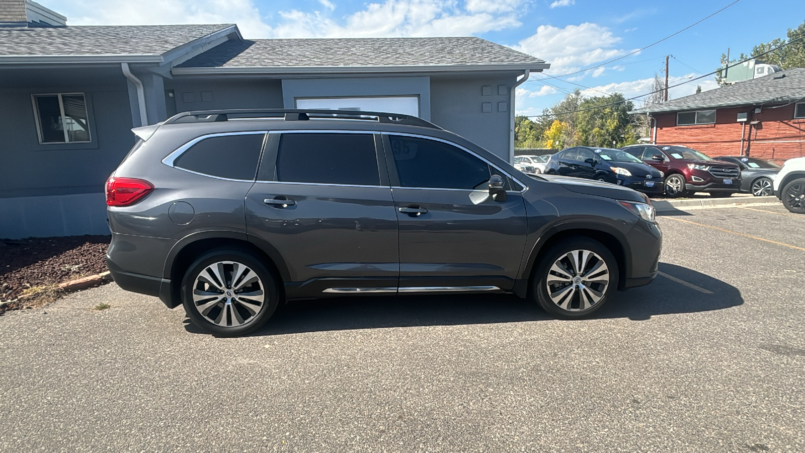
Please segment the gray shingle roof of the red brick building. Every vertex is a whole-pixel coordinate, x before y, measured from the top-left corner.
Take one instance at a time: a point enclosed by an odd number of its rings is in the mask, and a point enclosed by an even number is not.
[[[766,102],[791,102],[805,98],[805,68],[786,69],[749,81],[691,94],[642,107],[631,113],[676,112],[702,108],[746,106]]]

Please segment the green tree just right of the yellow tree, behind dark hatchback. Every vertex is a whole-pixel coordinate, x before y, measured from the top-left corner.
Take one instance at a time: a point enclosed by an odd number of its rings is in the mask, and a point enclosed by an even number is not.
[[[586,98],[579,107],[582,111],[577,113],[576,128],[580,143],[576,144],[617,148],[637,142],[638,131],[629,117],[634,104],[623,94]]]

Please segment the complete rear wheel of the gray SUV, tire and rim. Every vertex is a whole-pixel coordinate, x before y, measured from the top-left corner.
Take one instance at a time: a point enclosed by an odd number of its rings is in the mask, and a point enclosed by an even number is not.
[[[213,266],[224,262],[231,264]],[[208,268],[218,272],[208,271]],[[254,276],[250,276],[249,271],[254,272]],[[217,275],[221,275],[223,281],[218,281]],[[260,328],[277,310],[279,282],[279,278],[250,252],[215,249],[199,256],[184,272],[182,305],[190,321],[205,332],[219,336],[244,335]],[[238,285],[242,288],[237,289]],[[203,294],[196,301],[194,290]],[[261,293],[262,301],[257,303]],[[213,303],[215,301],[217,303]]]

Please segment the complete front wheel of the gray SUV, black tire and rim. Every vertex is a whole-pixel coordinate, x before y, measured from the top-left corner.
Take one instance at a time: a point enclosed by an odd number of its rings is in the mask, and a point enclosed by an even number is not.
[[[561,264],[568,275],[572,273],[573,264],[569,257],[572,251],[591,251],[595,256],[589,256],[581,272],[576,272],[576,275],[568,280],[560,275],[562,272],[555,272],[553,269],[554,264]],[[575,256],[580,258],[580,255],[584,256],[579,253],[576,253]],[[617,290],[619,271],[617,261],[612,252],[598,241],[584,237],[564,239],[541,254],[539,260],[531,278],[530,293],[539,306],[543,307],[543,310],[556,318],[586,318],[600,310]],[[599,260],[606,266],[605,274],[601,274],[601,268],[597,271],[594,270],[597,268]],[[568,268],[568,265],[571,268]],[[582,280],[585,273],[587,278],[594,280],[587,281],[587,285],[584,285],[585,281]],[[557,282],[555,279],[561,281]],[[551,281],[554,283],[550,284]],[[604,281],[606,283],[603,283]],[[568,289],[561,297],[557,296],[568,286],[576,286],[576,288]],[[551,294],[554,298],[551,298]],[[590,304],[599,295],[600,298]]]

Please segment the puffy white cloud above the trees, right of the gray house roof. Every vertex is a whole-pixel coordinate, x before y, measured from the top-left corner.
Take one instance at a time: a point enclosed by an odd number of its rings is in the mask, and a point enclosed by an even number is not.
[[[564,28],[540,25],[534,35],[522,39],[514,49],[546,60],[551,64],[549,73],[559,75],[629,52],[616,48],[620,41],[609,28],[597,23]]]

